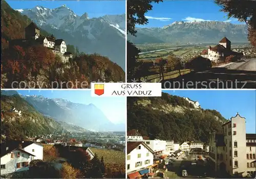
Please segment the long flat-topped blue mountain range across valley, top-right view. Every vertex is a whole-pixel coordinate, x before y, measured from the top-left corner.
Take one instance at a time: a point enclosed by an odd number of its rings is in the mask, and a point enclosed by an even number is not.
[[[135,44],[143,43],[217,43],[226,36],[231,42],[248,42],[247,26],[223,21],[175,21],[156,28],[136,28],[137,37],[129,35]]]

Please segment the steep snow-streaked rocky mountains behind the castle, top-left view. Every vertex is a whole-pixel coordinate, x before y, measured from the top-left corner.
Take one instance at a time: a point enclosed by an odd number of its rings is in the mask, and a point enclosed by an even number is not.
[[[125,70],[125,14],[90,18],[88,13],[79,16],[65,5],[16,11],[56,38],[64,39],[66,44],[77,46],[80,52],[109,57]]]

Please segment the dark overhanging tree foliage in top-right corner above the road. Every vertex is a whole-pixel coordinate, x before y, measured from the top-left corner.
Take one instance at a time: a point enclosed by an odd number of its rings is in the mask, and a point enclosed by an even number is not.
[[[238,18],[248,25],[248,39],[256,47],[256,1],[253,0],[215,0],[228,18]]]

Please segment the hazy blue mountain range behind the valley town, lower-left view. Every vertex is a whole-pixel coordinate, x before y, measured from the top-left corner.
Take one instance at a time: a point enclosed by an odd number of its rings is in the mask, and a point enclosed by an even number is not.
[[[1,95],[17,95],[15,91],[2,91]],[[18,94],[19,95],[19,94]],[[61,126],[71,125],[91,131],[125,130],[125,124],[113,124],[94,104],[73,103],[65,99],[49,99],[44,96],[22,96],[33,108],[45,117],[54,119]],[[15,106],[15,104],[13,104]],[[18,107],[16,107],[17,110]]]

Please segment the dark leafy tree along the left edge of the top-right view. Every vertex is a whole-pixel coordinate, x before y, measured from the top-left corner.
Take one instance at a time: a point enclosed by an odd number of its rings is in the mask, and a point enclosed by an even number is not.
[[[159,3],[162,0],[128,0],[127,1],[127,33],[136,36],[135,25],[145,25],[148,19],[145,17],[147,11],[152,10],[151,3]],[[136,78],[138,68],[139,49],[133,43],[127,42],[127,78],[129,80]]]

